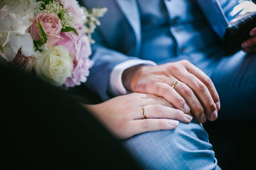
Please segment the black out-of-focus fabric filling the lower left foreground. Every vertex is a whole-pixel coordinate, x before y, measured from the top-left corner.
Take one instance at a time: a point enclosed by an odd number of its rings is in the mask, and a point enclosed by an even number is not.
[[[0,76],[1,169],[140,168],[64,91],[4,65]]]

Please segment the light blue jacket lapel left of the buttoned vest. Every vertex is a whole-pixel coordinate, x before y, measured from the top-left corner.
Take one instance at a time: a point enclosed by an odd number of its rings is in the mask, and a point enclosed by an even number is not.
[[[134,34],[136,36],[136,49],[134,52],[134,56],[138,56],[140,52],[141,42],[141,24],[138,4],[136,3],[136,0],[116,0],[116,3],[120,7],[121,11],[124,13],[124,16],[126,17],[134,31]]]

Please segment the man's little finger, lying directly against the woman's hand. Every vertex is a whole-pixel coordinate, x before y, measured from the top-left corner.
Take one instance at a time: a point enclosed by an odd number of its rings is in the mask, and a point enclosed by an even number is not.
[[[168,102],[174,105],[177,109],[188,113],[190,111],[188,104],[184,98],[182,98],[175,89],[164,82],[154,82],[152,84],[152,89],[148,89],[152,91],[152,93],[158,95],[159,97],[165,98]]]

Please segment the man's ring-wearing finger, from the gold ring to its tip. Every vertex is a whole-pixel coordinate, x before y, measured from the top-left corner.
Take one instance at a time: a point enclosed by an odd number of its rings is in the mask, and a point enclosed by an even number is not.
[[[207,118],[204,114],[204,107],[196,97],[195,93],[192,91],[191,88],[189,88],[186,84],[183,82],[179,82],[175,86],[175,90],[183,97],[185,98],[186,102],[188,103],[191,112],[193,116],[195,116],[196,120],[200,123],[205,123]]]

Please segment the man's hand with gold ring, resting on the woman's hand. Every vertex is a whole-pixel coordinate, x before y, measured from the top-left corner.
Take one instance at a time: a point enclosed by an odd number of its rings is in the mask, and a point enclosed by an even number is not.
[[[122,81],[127,90],[163,97],[177,109],[192,114],[200,123],[218,117],[220,98],[214,84],[189,61],[133,66],[125,70]],[[172,88],[175,81],[180,82]]]

